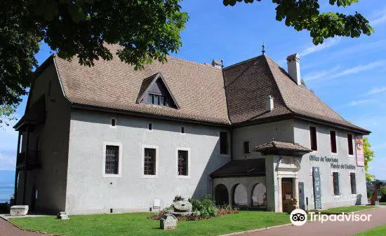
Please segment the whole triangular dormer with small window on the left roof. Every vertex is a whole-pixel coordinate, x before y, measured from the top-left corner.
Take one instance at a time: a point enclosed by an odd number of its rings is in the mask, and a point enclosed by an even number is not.
[[[137,103],[168,106],[179,109],[161,73],[154,74],[142,81]]]

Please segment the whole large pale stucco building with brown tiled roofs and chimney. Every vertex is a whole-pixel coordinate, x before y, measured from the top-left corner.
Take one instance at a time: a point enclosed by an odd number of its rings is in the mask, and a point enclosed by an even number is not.
[[[288,73],[267,55],[225,68],[168,57],[140,71],[117,57],[95,67],[49,57],[15,125],[17,204],[67,214],[154,211],[175,195],[269,211],[293,197],[303,209],[366,204],[369,131],[302,85],[298,55],[287,60]]]

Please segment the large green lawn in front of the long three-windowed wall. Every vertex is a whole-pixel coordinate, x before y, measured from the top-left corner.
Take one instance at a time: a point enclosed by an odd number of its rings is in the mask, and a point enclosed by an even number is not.
[[[180,221],[176,230],[160,230],[159,221],[147,218],[150,213],[100,214],[10,218],[22,228],[60,235],[222,235],[230,232],[265,228],[290,223],[288,214],[267,211],[240,211],[204,221]]]

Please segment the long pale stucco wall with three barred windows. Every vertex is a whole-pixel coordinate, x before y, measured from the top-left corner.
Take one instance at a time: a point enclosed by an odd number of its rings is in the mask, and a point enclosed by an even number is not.
[[[117,118],[117,127],[110,119]],[[148,130],[152,123],[153,130]],[[185,134],[180,133],[181,126]],[[229,162],[220,155],[220,127],[73,110],[66,195],[68,214],[149,211],[158,199],[168,207],[175,195],[211,194],[209,174]],[[121,176],[104,177],[103,143],[121,145]],[[143,176],[142,146],[157,146],[156,177]],[[176,176],[176,150],[189,148],[189,177]]]

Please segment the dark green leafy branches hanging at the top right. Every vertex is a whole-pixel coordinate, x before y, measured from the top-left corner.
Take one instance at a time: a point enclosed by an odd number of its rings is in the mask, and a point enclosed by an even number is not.
[[[223,0],[225,6],[234,6],[243,0]],[[253,4],[261,0],[244,0]],[[332,6],[347,7],[359,0],[329,0]],[[324,39],[334,36],[350,36],[358,38],[361,34],[370,35],[374,32],[368,20],[360,13],[345,15],[342,13],[321,13],[319,0],[272,0],[277,4],[276,20],[284,20],[286,26],[300,31],[310,31],[315,45],[323,43]]]

